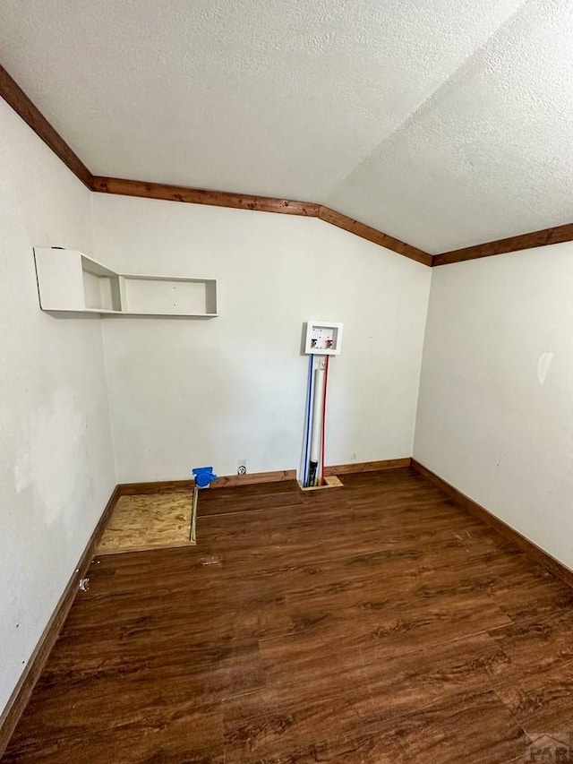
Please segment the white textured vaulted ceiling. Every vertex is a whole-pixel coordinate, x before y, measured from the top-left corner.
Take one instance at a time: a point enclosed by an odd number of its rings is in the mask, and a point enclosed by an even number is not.
[[[2,0],[96,175],[321,202],[439,253],[573,220],[573,0]]]

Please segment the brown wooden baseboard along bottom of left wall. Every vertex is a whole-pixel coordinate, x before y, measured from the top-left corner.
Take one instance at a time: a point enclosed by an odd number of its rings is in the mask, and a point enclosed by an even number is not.
[[[73,605],[73,600],[78,593],[80,580],[86,575],[86,571],[90,567],[90,562],[95,554],[96,546],[98,545],[99,538],[104,532],[107,520],[114,511],[115,503],[119,498],[117,486],[111,494],[109,501],[106,504],[101,518],[98,520],[98,525],[94,528],[91,534],[90,541],[86,546],[80,561],[77,564],[76,570],[73,572],[71,579],[68,581],[62,597],[60,597],[56,609],[52,614],[49,622],[47,622],[46,629],[43,631],[34,652],[32,653],[24,672],[21,674],[20,681],[14,688],[12,696],[4,708],[4,712],[0,717],[0,759],[2,758],[3,751],[10,740],[14,727],[18,724],[18,720],[21,714],[26,708],[28,701],[38,678],[41,675],[44,666],[46,665],[47,657],[50,651],[54,647],[58,634],[60,633],[65,619],[70,612],[70,608]]]

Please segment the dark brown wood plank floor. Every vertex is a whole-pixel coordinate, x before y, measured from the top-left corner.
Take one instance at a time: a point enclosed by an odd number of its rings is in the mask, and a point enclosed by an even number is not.
[[[573,727],[573,590],[409,469],[201,494],[96,560],[8,762],[526,760]]]

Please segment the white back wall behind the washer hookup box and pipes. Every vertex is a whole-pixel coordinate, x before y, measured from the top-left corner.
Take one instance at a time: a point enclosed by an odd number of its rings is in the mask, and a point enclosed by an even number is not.
[[[120,482],[298,468],[303,322],[345,323],[327,464],[410,456],[431,270],[318,219],[94,194],[95,256],[214,276],[210,321],[106,319]]]

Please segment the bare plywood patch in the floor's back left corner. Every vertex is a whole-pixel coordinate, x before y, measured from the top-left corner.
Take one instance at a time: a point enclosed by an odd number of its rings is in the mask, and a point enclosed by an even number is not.
[[[107,523],[97,554],[192,545],[191,491],[122,496]]]

